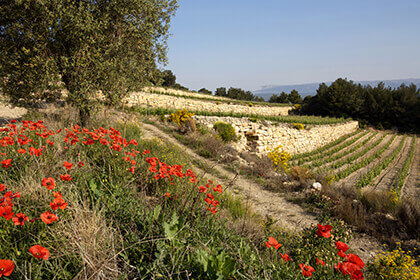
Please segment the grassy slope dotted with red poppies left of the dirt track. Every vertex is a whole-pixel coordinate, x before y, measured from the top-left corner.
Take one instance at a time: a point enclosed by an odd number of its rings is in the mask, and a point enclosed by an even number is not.
[[[361,279],[370,273],[345,244],[350,232],[342,223],[324,220],[291,234],[255,219],[223,186],[198,178],[184,153],[142,139],[134,124],[104,127],[105,120],[95,119],[82,128],[62,114],[27,117],[43,120],[13,122],[1,132],[2,276]]]

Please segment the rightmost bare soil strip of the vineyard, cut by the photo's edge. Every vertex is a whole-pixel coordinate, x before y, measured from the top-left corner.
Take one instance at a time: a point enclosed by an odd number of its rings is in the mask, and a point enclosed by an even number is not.
[[[418,138],[416,139],[416,150],[414,151],[410,172],[401,189],[401,194],[413,198],[414,201],[420,200],[420,141]]]

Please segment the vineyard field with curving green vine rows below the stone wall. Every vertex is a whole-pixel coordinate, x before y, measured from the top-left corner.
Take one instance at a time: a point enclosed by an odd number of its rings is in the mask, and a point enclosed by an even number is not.
[[[351,135],[299,154],[293,165],[334,176],[336,187],[354,186],[363,191],[390,190],[396,198],[420,198],[419,143],[416,136],[358,130]]]

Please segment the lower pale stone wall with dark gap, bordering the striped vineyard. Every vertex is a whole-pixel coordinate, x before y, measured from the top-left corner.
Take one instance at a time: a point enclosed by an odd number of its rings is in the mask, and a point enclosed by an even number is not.
[[[305,129],[297,130],[290,124],[274,124],[270,121],[252,122],[248,118],[194,116],[196,122],[213,127],[217,121],[233,125],[241,139],[233,146],[239,151],[252,151],[257,154],[266,154],[278,145],[293,154],[309,152],[343,135],[357,130],[357,121],[331,125],[305,125]]]

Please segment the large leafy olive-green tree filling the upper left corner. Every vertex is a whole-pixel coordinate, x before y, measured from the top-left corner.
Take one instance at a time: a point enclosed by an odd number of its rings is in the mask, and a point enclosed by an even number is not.
[[[176,0],[5,0],[0,5],[0,83],[13,101],[68,90],[82,122],[92,95],[115,104],[153,80],[166,61]]]

